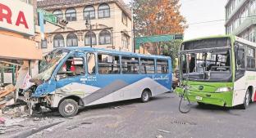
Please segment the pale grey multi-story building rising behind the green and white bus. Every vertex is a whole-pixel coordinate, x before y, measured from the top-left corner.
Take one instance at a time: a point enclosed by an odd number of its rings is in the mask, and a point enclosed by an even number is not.
[[[228,0],[226,33],[256,42],[256,0]]]

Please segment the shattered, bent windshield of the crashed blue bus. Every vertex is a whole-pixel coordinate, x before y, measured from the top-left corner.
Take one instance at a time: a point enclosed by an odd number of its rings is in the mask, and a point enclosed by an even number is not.
[[[39,65],[39,75],[35,78],[46,81],[51,78],[53,70],[59,62],[68,54],[68,50],[57,49],[43,57]]]

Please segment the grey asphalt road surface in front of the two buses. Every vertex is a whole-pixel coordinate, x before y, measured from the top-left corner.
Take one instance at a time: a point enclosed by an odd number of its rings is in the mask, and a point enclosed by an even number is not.
[[[249,109],[192,105],[189,114],[178,111],[174,93],[149,103],[129,100],[81,109],[75,118],[39,131],[31,138],[254,138],[256,104]],[[59,116],[48,118],[60,119]],[[163,130],[163,131],[159,131]]]

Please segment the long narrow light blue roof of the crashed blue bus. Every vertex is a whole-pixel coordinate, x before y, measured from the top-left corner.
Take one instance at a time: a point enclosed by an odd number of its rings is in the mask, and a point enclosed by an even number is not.
[[[126,56],[144,56],[144,57],[171,59],[171,57],[169,57],[169,56],[144,55],[144,54],[137,54],[137,53],[126,52],[126,51],[112,51],[112,50],[107,50],[107,49],[103,49],[103,48],[63,47],[63,48],[57,48],[57,49],[66,49],[66,50],[70,50],[70,51],[97,51],[97,52],[106,52],[106,53],[110,53],[110,54],[121,54],[121,55],[126,55]]]

